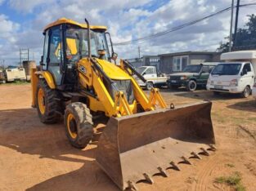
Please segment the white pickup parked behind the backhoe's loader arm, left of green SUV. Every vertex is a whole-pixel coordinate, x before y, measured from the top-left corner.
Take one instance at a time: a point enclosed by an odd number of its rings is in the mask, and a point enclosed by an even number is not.
[[[136,70],[146,79],[146,82],[142,82],[141,79],[136,78],[140,87],[150,90],[151,87],[166,86],[167,76],[164,73],[157,73],[155,66],[141,66]]]

